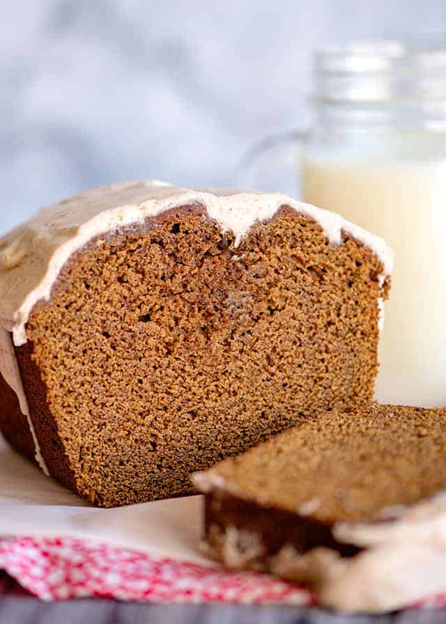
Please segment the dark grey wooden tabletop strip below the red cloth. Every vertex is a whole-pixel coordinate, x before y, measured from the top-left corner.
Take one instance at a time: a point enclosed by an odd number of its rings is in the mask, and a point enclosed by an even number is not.
[[[444,609],[414,609],[382,616],[344,616],[299,607],[231,607],[143,604],[113,600],[42,602],[0,598],[1,624],[440,624]]]

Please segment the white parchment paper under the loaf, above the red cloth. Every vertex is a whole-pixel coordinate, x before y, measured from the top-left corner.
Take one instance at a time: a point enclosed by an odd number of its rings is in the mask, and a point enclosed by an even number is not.
[[[46,477],[0,436],[0,536],[75,536],[215,565],[199,552],[200,496],[98,509]]]

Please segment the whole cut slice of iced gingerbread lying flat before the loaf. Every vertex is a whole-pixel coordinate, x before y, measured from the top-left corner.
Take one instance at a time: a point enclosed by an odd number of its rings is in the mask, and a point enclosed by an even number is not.
[[[309,584],[348,611],[446,591],[445,409],[325,412],[192,479],[203,547],[231,568]]]

